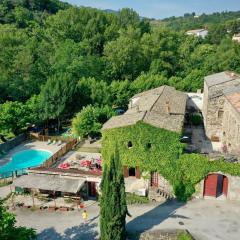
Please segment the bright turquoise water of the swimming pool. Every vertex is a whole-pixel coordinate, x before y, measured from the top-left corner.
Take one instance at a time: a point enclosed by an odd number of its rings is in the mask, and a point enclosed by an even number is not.
[[[13,155],[12,160],[9,163],[0,167],[0,175],[41,165],[51,155],[51,152],[34,149],[18,152]]]

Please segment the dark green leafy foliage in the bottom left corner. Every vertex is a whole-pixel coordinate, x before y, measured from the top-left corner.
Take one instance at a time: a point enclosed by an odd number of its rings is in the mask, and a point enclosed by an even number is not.
[[[7,212],[0,200],[0,239],[36,239],[36,232],[32,228],[16,227],[16,219],[12,213]]]

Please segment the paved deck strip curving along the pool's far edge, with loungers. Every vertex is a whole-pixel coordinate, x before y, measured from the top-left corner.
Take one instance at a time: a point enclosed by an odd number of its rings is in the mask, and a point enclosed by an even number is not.
[[[7,153],[7,155],[5,155],[4,157],[0,157],[0,167],[5,165],[9,161],[11,161],[12,156],[14,154],[20,152],[20,151],[24,151],[24,150],[28,150],[28,149],[36,149],[36,150],[50,151],[50,152],[52,152],[54,154],[62,146],[63,146],[63,144],[61,146],[57,146],[57,145],[53,145],[53,144],[47,144],[47,142],[40,142],[40,141],[27,141],[27,142],[24,142],[24,143],[18,145],[17,147],[13,148],[12,150],[10,150]]]

